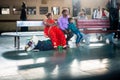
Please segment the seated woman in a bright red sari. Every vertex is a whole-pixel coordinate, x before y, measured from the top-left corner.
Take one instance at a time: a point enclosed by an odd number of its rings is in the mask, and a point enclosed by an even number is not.
[[[66,48],[66,38],[64,33],[57,27],[55,20],[51,13],[46,15],[47,19],[44,21],[45,29],[44,34],[45,36],[49,37],[52,41],[53,47],[56,49],[58,46],[62,46]]]

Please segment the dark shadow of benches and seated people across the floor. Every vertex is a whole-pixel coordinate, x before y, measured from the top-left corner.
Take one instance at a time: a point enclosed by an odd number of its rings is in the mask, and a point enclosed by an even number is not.
[[[25,51],[8,51],[2,54],[2,56],[6,59],[10,60],[28,60],[33,59],[35,63],[19,65],[18,70],[29,70],[33,68],[43,67],[46,74],[49,74],[55,69],[56,65],[59,66],[60,75],[55,80],[119,80],[120,72],[114,71],[100,76],[92,76],[85,78],[78,77],[73,78],[69,75],[70,65],[74,60],[78,62],[84,60],[95,60],[95,59],[114,59],[117,57],[119,52],[117,52],[119,48],[116,48],[114,45],[104,45],[101,47],[90,47],[90,46],[82,46],[79,48],[71,48],[67,50],[52,50],[52,51],[40,51],[40,52],[25,52]],[[45,61],[43,63],[38,62],[37,60],[41,60],[44,58]],[[113,64],[112,64],[113,66]],[[77,67],[77,66],[75,66]],[[65,69],[65,70],[64,70]],[[64,71],[68,74],[68,76],[62,75]],[[64,76],[64,77],[61,77]],[[117,78],[117,79],[116,79]],[[39,80],[39,79],[36,79]],[[51,77],[46,77],[45,80],[54,80]]]

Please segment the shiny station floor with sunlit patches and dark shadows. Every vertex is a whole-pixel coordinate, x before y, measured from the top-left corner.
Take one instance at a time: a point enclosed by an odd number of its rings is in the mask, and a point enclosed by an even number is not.
[[[79,48],[70,42],[67,50],[25,52],[27,38],[21,38],[22,48],[16,50],[12,37],[0,36],[0,80],[110,80],[120,72],[120,41],[82,43]]]

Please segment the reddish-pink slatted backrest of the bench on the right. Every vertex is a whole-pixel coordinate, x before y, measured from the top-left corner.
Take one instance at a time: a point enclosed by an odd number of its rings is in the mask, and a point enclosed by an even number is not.
[[[77,27],[84,28],[109,28],[109,20],[77,20]]]

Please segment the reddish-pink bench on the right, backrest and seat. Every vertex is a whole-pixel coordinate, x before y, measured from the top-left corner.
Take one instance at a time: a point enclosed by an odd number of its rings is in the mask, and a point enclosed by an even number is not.
[[[107,35],[105,35],[104,37],[106,38],[106,36],[111,35],[111,39],[114,37],[113,33],[120,32],[119,30],[108,30],[108,28],[110,28],[109,20],[102,20],[102,19],[101,20],[77,20],[77,27],[79,29],[82,29],[81,32],[83,32],[84,34],[91,34],[91,33],[104,34],[105,33]]]

